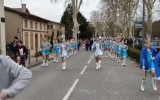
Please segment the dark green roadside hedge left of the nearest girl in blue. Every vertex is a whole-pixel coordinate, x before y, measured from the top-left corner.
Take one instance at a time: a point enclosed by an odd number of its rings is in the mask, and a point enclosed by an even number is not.
[[[129,47],[128,48],[128,55],[129,55],[129,57],[131,57],[131,58],[135,59],[137,62],[139,62],[139,59],[140,59],[140,50],[139,49]]]

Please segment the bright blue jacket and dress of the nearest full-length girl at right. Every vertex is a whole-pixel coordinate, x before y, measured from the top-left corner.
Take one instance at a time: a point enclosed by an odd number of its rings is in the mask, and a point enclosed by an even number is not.
[[[155,69],[152,58],[156,56],[156,50],[154,48],[150,48],[150,50],[151,52],[147,51],[147,48],[142,48],[140,53],[140,66],[144,67],[145,71]]]

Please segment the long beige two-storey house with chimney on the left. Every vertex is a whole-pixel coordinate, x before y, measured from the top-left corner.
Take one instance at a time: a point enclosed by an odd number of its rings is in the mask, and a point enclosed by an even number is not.
[[[30,49],[31,55],[34,55],[36,50],[40,51],[43,38],[52,34],[47,27],[52,21],[31,14],[26,4],[22,4],[22,8],[5,7],[5,16],[6,42],[12,42],[13,37],[17,36]],[[61,26],[61,24],[55,23],[55,33],[61,32],[61,27],[57,31],[56,25]]]

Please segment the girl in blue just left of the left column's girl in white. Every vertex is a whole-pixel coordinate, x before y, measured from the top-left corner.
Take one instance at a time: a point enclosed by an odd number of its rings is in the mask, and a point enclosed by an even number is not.
[[[55,39],[53,43],[53,53],[54,53],[54,63],[56,63],[58,62],[58,54],[59,54],[59,44],[57,39]]]

